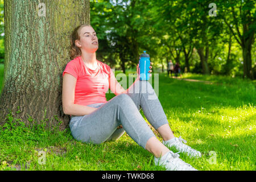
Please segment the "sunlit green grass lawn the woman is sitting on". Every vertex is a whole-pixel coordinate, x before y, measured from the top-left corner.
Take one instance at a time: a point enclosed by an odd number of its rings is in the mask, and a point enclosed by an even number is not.
[[[254,83],[236,78],[230,82],[225,80],[229,78],[222,77],[200,78],[209,79],[222,84],[209,85],[159,75],[159,100],[175,137],[182,136],[189,146],[203,154],[200,159],[190,159],[183,154],[180,158],[199,170],[255,170]],[[106,97],[109,100],[113,96],[107,94]],[[0,133],[1,170],[164,169],[156,167],[150,152],[127,134],[115,142],[82,143],[72,137],[69,129],[50,131],[43,123],[25,127],[11,113]],[[45,152],[45,164],[40,164],[40,151]],[[209,161],[213,159],[210,151],[216,152],[216,164]]]

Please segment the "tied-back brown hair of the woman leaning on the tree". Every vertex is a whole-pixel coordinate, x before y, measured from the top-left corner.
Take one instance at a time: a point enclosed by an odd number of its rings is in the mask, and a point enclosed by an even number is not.
[[[73,30],[73,32],[70,36],[71,46],[70,46],[70,51],[69,51],[69,57],[72,60],[75,59],[77,56],[81,56],[81,49],[76,46],[75,41],[80,40],[80,35],[79,35],[80,30],[82,27],[86,27],[86,26],[92,27],[92,26],[90,26],[90,24],[81,24],[80,26],[76,27]]]

